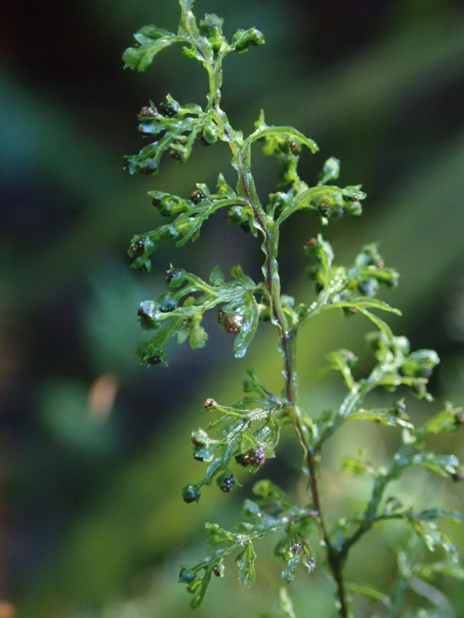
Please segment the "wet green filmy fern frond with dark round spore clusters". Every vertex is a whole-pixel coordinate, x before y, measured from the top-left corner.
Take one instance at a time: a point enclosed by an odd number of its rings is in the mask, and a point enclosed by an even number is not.
[[[231,165],[236,171],[236,186],[230,187],[222,174],[213,190],[204,183],[189,197],[179,197],[160,191],[150,191],[153,207],[158,215],[168,218],[154,230],[135,235],[129,247],[134,258],[132,268],[150,271],[150,254],[161,240],[175,240],[184,245],[197,240],[202,224],[216,211],[226,210],[228,222],[240,226],[261,242],[264,259],[262,281],[255,282],[234,266],[226,278],[219,268],[213,269],[209,281],[203,281],[183,268],[170,266],[166,281],[170,291],[155,300],[140,303],[137,315],[140,326],[155,331],[151,339],[139,344],[137,354],[142,363],[166,363],[166,344],[171,337],[178,343],[189,339],[193,349],[203,347],[207,333],[202,327],[206,311],[217,311],[221,328],[234,336],[236,357],[243,357],[251,344],[260,321],[275,325],[279,349],[283,359],[285,386],[281,394],[271,392],[254,371],[249,371],[244,383],[246,396],[233,405],[218,404],[213,399],[204,403],[215,418],[207,431],[192,433],[193,455],[208,466],[200,481],[187,485],[182,491],[185,502],[198,502],[200,491],[215,483],[228,493],[236,484],[234,467],[246,467],[256,472],[266,459],[274,457],[281,426],[293,425],[303,451],[303,472],[307,475],[307,504],[294,504],[270,480],[260,480],[253,487],[255,499],[246,499],[243,517],[236,530],[229,531],[214,523],[207,523],[208,541],[217,549],[199,564],[181,569],[180,581],[191,593],[191,606],[198,607],[204,599],[212,575],[223,577],[229,554],[236,553],[238,577],[245,585],[255,580],[254,560],[256,541],[277,535],[275,556],[285,562],[282,580],[290,583],[296,570],[308,576],[316,568],[314,551],[308,538],[319,535],[324,547],[326,566],[335,582],[336,606],[340,616],[351,616],[350,599],[354,593],[371,596],[383,604],[377,616],[405,616],[403,599],[411,582],[427,580],[436,574],[453,575],[461,580],[464,571],[457,564],[457,554],[441,522],[445,518],[462,521],[456,512],[439,508],[417,511],[398,499],[385,497],[390,481],[397,479],[413,466],[425,466],[437,474],[461,480],[463,469],[454,455],[437,455],[429,450],[429,436],[455,431],[464,423],[461,408],[445,404],[431,420],[415,427],[405,411],[403,399],[393,401],[387,408],[366,408],[367,394],[382,387],[395,392],[399,386],[409,387],[411,394],[431,400],[427,381],[439,363],[432,350],[410,351],[406,337],[393,336],[389,326],[373,311],[399,314],[397,309],[377,298],[382,286],[394,288],[398,273],[385,268],[384,260],[375,244],[361,248],[354,264],[348,268],[336,266],[329,242],[322,235],[311,238],[303,247],[307,256],[307,277],[315,282],[317,298],[312,304],[296,302],[281,293],[278,268],[279,229],[286,219],[298,210],[311,211],[326,225],[342,216],[359,216],[361,201],[366,197],[361,185],[338,187],[340,171],[338,159],[330,157],[319,174],[317,183],[310,186],[298,175],[298,161],[302,148],[316,153],[316,143],[289,126],[266,124],[264,112],[255,123],[255,130],[247,137],[234,130],[226,112],[221,108],[222,64],[230,53],[243,53],[250,46],[264,43],[264,36],[256,28],[238,30],[229,42],[222,32],[223,20],[217,15],[205,15],[197,23],[192,14],[193,0],[180,0],[181,22],[178,33],[153,25],[145,26],[134,37],[133,47],[126,49],[126,67],[144,71],[161,49],[183,43],[183,53],[202,64],[208,73],[207,104],[180,104],[170,95],[158,106],[150,103],[139,113],[139,130],[148,144],[138,155],[128,157],[131,174],[157,174],[163,153],[186,161],[195,144],[210,145],[226,142],[231,149]],[[278,190],[269,195],[269,203],[259,200],[251,171],[251,146],[262,144],[262,152],[274,156],[281,165]],[[295,348],[299,330],[308,320],[323,311],[343,311],[366,316],[376,327],[367,335],[367,343],[376,359],[374,368],[364,377],[353,376],[356,357],[350,350],[340,349],[329,354],[329,370],[339,371],[346,384],[346,397],[336,412],[311,418],[299,406],[298,377]],[[372,477],[372,496],[365,509],[353,517],[340,520],[333,527],[327,518],[320,498],[320,457],[324,443],[332,434],[352,420],[366,420],[398,428],[402,446],[394,455],[390,467],[374,468],[361,451],[359,459],[347,458],[343,468],[354,474]],[[440,549],[445,557],[438,562],[427,561],[421,552],[408,554],[398,551],[398,580],[388,591],[377,591],[361,585],[348,585],[343,567],[353,544],[377,522],[404,520],[410,524],[424,546],[431,551]],[[415,586],[415,590],[417,590]],[[430,590],[430,586],[427,588]],[[287,616],[294,616],[285,588],[281,589],[281,607]],[[433,601],[433,595],[429,595]],[[418,610],[408,616],[439,616],[437,611]]]

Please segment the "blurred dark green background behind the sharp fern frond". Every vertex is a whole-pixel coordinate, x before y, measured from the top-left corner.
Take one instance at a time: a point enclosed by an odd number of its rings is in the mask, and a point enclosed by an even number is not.
[[[338,263],[350,263],[367,242],[402,273],[384,300],[402,309],[392,320],[413,349],[442,358],[432,380],[433,404],[408,400],[416,420],[445,398],[464,402],[464,11],[457,0],[198,0],[197,14],[225,17],[229,35],[256,25],[267,43],[225,63],[223,107],[249,131],[259,109],[272,124],[294,124],[320,145],[305,155],[301,175],[314,182],[324,160],[342,161],[340,182],[363,183],[362,218],[330,225],[325,234]],[[145,23],[174,30],[175,0],[11,2],[0,23],[0,616],[148,618],[191,616],[179,564],[207,555],[202,525],[238,519],[256,476],[225,496],[204,491],[186,505],[179,489],[200,478],[190,432],[207,425],[205,397],[240,397],[241,379],[256,368],[280,384],[275,332],[265,325],[243,360],[211,318],[203,350],[172,347],[166,368],[140,366],[140,300],[165,289],[174,265],[207,277],[238,261],[259,277],[256,241],[220,215],[182,249],[163,245],[150,274],[129,271],[128,240],[158,224],[147,190],[189,195],[195,182],[213,185],[218,171],[233,182],[226,148],[198,146],[183,166],[171,159],[157,177],[129,177],[122,155],[141,145],[136,114],[170,92],[203,103],[206,79],[178,47],[145,74],[122,72],[122,51]],[[256,149],[262,197],[275,190],[277,169]],[[314,296],[304,279],[301,246],[320,231],[298,214],[282,233],[284,291]],[[317,378],[324,355],[348,347],[369,370],[362,316],[329,313],[306,327],[299,344],[303,404],[313,416],[338,405],[337,376]],[[279,386],[280,387],[280,386]],[[388,405],[392,397],[377,396]],[[397,397],[397,396],[396,396]],[[366,447],[387,462],[395,430],[353,423],[325,452],[325,501],[332,520],[362,507],[369,480],[342,476],[343,455]],[[439,452],[464,456],[461,434],[436,441]],[[271,476],[304,501],[299,452],[285,436]],[[245,471],[246,472],[246,471]],[[393,489],[393,488],[392,488]],[[427,471],[395,488],[419,508],[462,507],[464,489]],[[464,536],[453,528],[458,545]],[[394,546],[402,527],[383,527],[354,549],[348,580],[387,592],[395,577]],[[262,543],[257,584],[239,587],[235,568],[210,586],[197,618],[279,614],[280,565]],[[439,557],[437,556],[437,559]],[[232,561],[231,561],[232,562]],[[464,616],[462,582],[437,582],[449,596],[445,615]],[[298,616],[333,616],[323,569],[291,587]],[[419,603],[411,593],[408,603]],[[427,606],[427,601],[423,601]],[[372,604],[356,602],[358,616]],[[448,613],[446,613],[448,612]],[[454,613],[453,613],[454,612]]]

